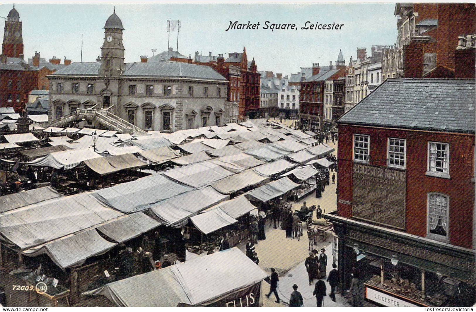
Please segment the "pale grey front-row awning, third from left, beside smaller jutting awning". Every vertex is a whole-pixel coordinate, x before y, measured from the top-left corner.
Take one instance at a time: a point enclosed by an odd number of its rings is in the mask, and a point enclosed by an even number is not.
[[[182,227],[189,217],[228,198],[208,186],[161,201],[151,206],[150,211],[165,224]]]

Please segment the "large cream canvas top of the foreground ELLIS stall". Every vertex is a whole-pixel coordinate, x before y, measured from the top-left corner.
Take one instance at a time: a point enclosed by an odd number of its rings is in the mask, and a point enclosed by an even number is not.
[[[118,306],[206,306],[266,277],[267,273],[234,247],[109,283],[97,294]]]

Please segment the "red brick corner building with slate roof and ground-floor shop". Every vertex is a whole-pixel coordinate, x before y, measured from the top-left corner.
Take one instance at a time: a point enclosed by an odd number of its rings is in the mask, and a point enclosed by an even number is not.
[[[346,289],[383,306],[475,303],[475,80],[388,78],[338,120]]]

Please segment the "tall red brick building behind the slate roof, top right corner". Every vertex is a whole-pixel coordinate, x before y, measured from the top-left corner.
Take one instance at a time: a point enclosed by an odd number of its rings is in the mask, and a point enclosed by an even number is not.
[[[398,76],[455,78],[455,43],[476,33],[475,3],[397,3],[395,15]]]

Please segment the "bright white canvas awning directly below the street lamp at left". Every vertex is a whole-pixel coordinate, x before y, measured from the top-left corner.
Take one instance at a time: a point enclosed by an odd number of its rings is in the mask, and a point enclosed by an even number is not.
[[[85,149],[71,149],[67,151],[54,152],[48,156],[35,159],[28,163],[24,163],[30,166],[47,166],[56,169],[70,169],[78,166],[81,162],[102,157],[95,153],[92,148]]]

